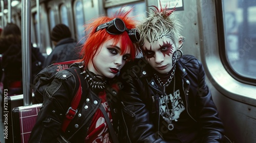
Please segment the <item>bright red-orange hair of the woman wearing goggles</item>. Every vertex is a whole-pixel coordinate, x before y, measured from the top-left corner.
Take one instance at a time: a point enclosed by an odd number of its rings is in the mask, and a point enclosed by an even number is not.
[[[120,45],[121,54],[123,54],[126,50],[130,50],[131,59],[135,58],[136,45],[131,41],[126,31],[119,35],[109,34],[108,32],[106,32],[105,29],[95,32],[96,28],[99,25],[109,22],[112,19],[117,17],[123,20],[127,29],[135,28],[135,24],[136,24],[135,20],[128,17],[128,15],[131,12],[132,12],[132,9],[130,9],[129,11],[124,11],[122,7],[115,13],[114,16],[98,17],[90,20],[89,24],[84,25],[84,27],[86,27],[85,31],[88,33],[88,35],[86,36],[86,42],[84,42],[80,52],[80,56],[82,57],[80,61],[84,61],[84,65],[88,65],[88,63],[95,56],[96,51],[101,47],[101,44],[103,44],[106,40],[110,40],[110,39],[114,40],[113,45],[116,45],[118,41],[121,39],[121,45]],[[129,47],[131,48],[129,49]]]

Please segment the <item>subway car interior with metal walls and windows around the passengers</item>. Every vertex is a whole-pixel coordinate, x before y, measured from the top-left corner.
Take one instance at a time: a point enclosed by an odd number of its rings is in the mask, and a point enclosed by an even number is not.
[[[111,15],[124,7],[133,9],[130,16],[140,21],[151,11],[149,6],[160,7],[160,3],[176,7],[174,13],[185,38],[183,54],[202,62],[225,135],[231,142],[255,142],[256,0],[1,0],[0,28],[2,31],[7,23],[15,23],[22,30],[23,54],[29,54],[26,46],[32,43],[47,57],[54,49],[50,32],[58,23],[68,26],[72,38],[82,44],[86,41],[84,24],[90,19]],[[28,63],[29,59],[23,59],[25,72],[31,70]],[[23,78],[31,80],[26,74]],[[3,83],[1,87],[0,141],[15,142],[19,138],[27,142],[30,131],[14,136],[15,130],[23,128],[12,124],[11,116],[13,108],[33,104],[31,87],[24,85],[19,95],[8,94]]]

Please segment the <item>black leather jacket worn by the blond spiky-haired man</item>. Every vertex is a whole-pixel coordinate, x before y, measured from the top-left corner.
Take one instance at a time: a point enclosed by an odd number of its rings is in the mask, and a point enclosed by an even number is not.
[[[163,91],[156,84],[153,71],[141,58],[126,63],[119,76],[122,116],[131,142],[169,142],[159,137],[159,94]],[[205,83],[202,64],[194,56],[185,55],[177,61],[175,74],[182,79],[186,112],[200,125],[201,142],[221,142],[223,124]]]

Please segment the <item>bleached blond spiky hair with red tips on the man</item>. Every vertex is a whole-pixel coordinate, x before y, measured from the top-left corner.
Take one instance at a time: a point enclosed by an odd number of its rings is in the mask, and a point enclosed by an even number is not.
[[[145,40],[152,43],[152,41],[154,42],[163,36],[169,35],[177,46],[182,26],[173,13],[175,8],[168,10],[167,6],[162,8],[160,5],[159,10],[156,6],[150,7],[154,7],[155,10],[151,8],[152,12],[148,13],[148,17],[137,26],[140,33],[139,44],[143,45]]]

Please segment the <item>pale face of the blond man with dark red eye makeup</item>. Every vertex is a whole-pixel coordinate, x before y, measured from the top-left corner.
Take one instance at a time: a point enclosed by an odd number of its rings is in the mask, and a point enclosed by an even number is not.
[[[176,63],[177,47],[169,36],[152,43],[146,40],[142,49],[147,62],[160,74],[168,73]]]

